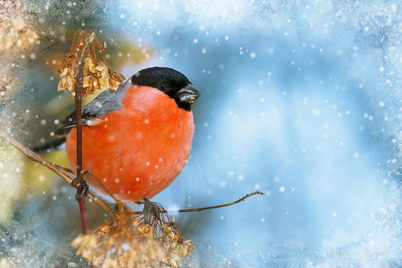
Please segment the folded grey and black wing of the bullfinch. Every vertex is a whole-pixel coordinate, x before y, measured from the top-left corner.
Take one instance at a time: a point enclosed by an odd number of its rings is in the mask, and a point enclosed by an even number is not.
[[[127,81],[129,83],[129,80]],[[127,87],[120,85],[117,91],[103,91],[93,101],[82,107],[82,125],[87,125],[88,122],[96,120],[96,118],[111,113],[119,109],[123,109],[121,99]],[[76,112],[73,111],[62,122],[56,134],[67,136],[70,129],[77,125]]]

